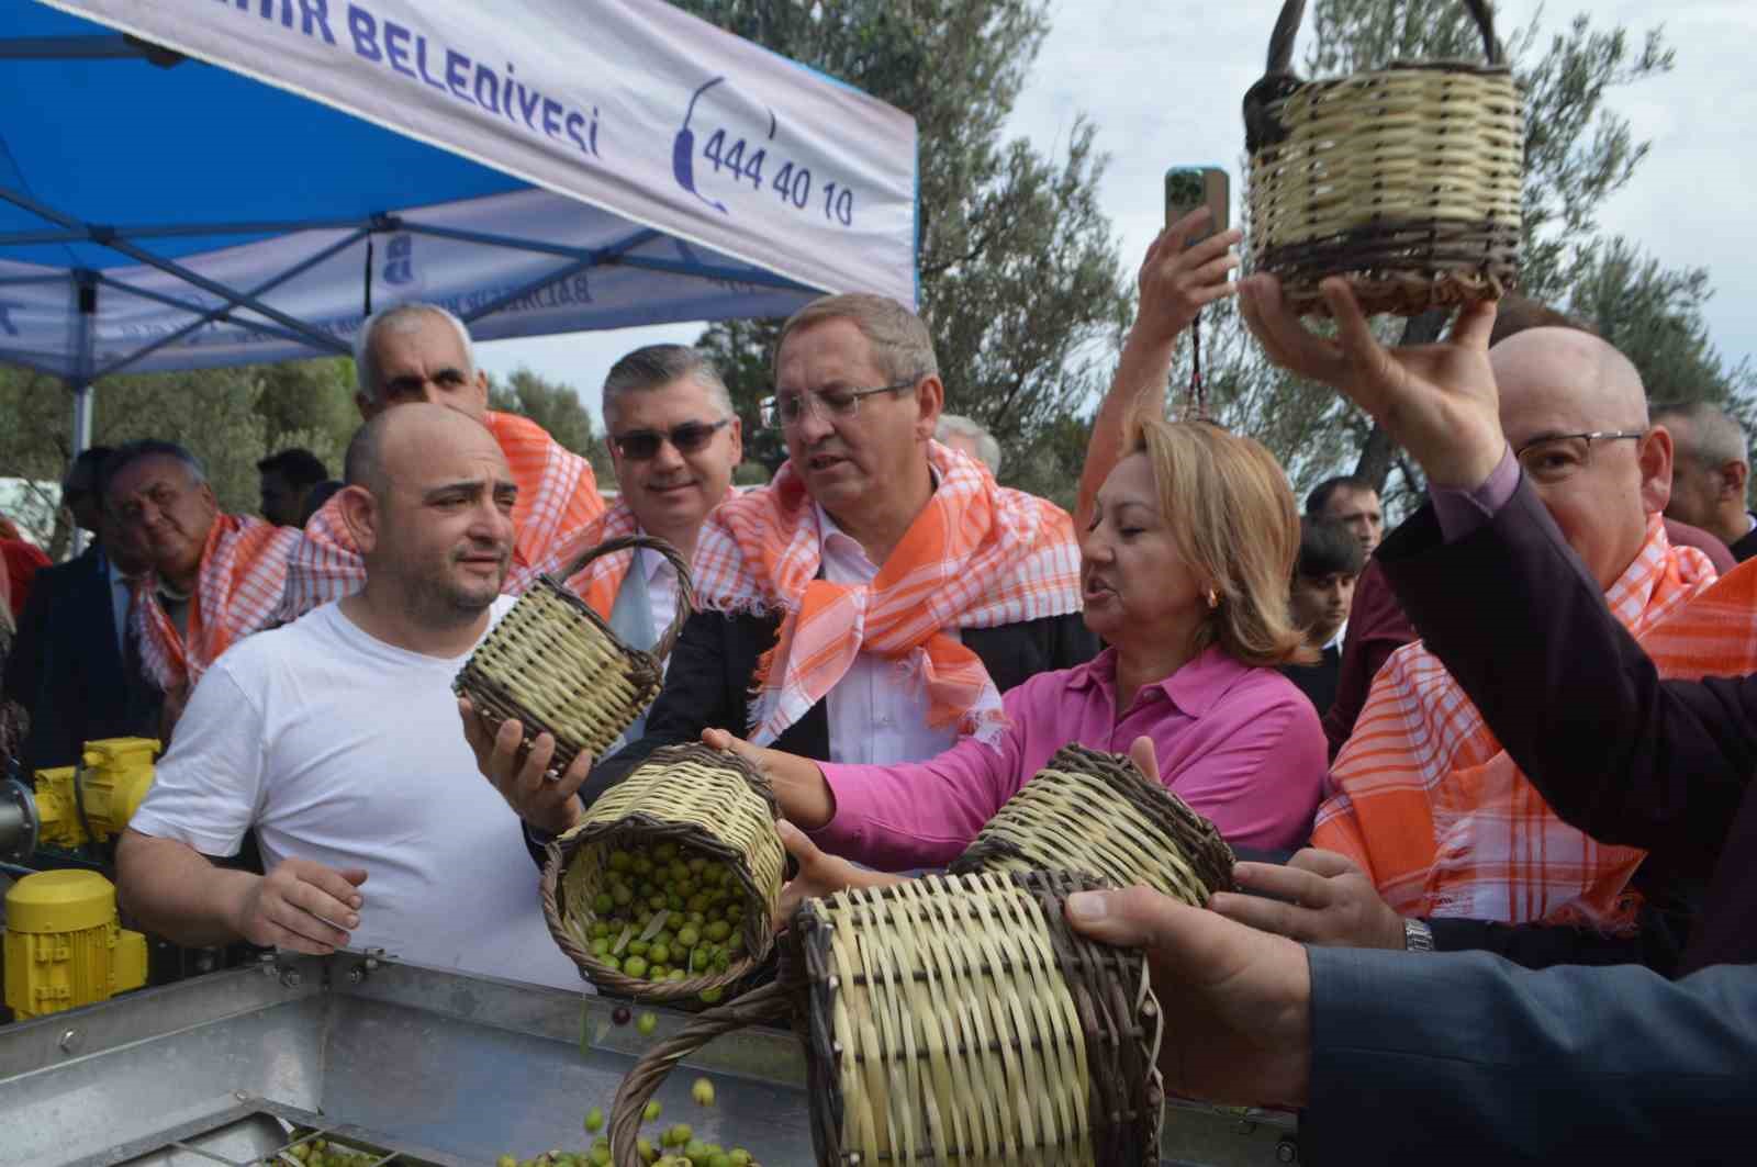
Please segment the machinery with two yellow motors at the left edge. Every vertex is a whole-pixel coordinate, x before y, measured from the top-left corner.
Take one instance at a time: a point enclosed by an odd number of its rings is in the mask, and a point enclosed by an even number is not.
[[[116,916],[107,856],[153,786],[158,752],[153,738],[107,738],[88,742],[77,766],[39,770],[33,789],[0,780],[0,863],[18,877],[5,889],[0,963],[4,1000],[16,1018],[221,963],[218,949],[149,944]]]

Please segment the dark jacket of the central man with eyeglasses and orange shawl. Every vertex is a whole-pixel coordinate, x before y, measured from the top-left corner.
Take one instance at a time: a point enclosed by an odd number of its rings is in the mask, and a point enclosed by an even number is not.
[[[647,714],[647,736],[631,742],[592,770],[580,789],[585,805],[627,775],[661,745],[699,742],[706,728],[745,736],[750,724],[750,678],[757,657],[775,645],[778,617],[698,612],[683,624],[664,691]],[[961,629],[963,643],[982,657],[1001,692],[1037,673],[1074,668],[1098,654],[1098,638],[1075,615],[1001,627]],[[775,740],[775,749],[824,761],[829,757],[829,715],[819,701]]]

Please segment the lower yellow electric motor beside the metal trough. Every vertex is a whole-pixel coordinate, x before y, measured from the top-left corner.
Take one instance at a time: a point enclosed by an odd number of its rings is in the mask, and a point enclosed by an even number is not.
[[[37,872],[5,895],[5,1004],[23,1021],[146,984],[146,937],[97,872]]]

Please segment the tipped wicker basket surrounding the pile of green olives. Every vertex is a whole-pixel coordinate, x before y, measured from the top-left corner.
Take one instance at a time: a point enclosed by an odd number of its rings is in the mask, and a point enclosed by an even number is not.
[[[587,979],[611,993],[687,1004],[703,991],[729,989],[756,972],[775,944],[785,866],[777,814],[768,780],[736,754],[699,743],[654,750],[592,803],[585,821],[548,845],[541,895],[550,935]],[[608,884],[610,854],[668,840],[729,863],[738,877],[745,951],[724,972],[647,981],[592,954],[590,928],[599,919],[592,909]]]

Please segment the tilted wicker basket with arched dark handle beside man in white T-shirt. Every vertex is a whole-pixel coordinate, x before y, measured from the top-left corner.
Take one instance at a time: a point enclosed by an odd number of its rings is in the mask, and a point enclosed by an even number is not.
[[[599,555],[640,547],[654,548],[676,568],[676,615],[652,652],[618,641],[604,619],[566,585]],[[694,608],[696,585],[675,547],[638,534],[606,540],[560,578],[539,575],[464,663],[452,691],[469,698],[494,729],[517,719],[525,731],[524,749],[548,731],[555,738],[550,770],[560,773],[582,752],[601,754],[652,705],[664,659]]]

